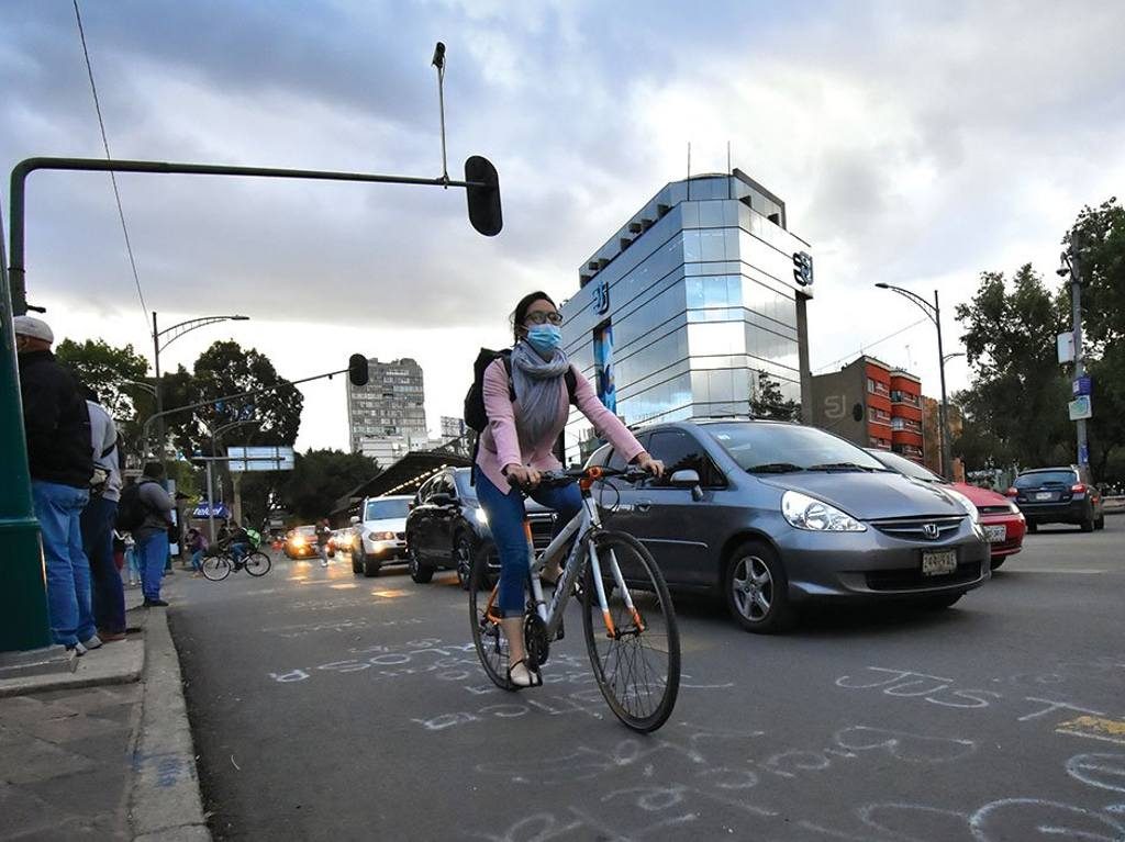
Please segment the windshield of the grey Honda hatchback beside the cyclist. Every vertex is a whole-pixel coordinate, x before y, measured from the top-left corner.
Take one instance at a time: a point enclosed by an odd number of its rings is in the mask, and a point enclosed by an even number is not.
[[[750,473],[886,470],[861,447],[816,427],[741,422],[704,429]]]

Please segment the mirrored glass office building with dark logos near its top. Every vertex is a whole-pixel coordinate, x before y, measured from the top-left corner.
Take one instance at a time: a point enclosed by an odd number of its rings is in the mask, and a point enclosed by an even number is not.
[[[630,425],[748,415],[759,372],[803,406],[812,280],[781,199],[739,170],[699,175],[667,184],[583,264],[564,341]],[[568,459],[595,441],[574,413]]]

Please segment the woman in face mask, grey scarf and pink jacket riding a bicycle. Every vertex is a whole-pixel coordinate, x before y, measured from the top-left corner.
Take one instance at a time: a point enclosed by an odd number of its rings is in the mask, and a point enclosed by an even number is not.
[[[507,679],[513,687],[541,683],[528,668],[523,645],[524,581],[528,574],[528,540],[523,531],[521,488],[537,501],[558,513],[556,528],[565,526],[582,508],[576,486],[537,489],[540,471],[560,468],[551,452],[569,414],[565,374],[572,369],[561,348],[562,316],[546,292],[524,296],[512,314],[515,345],[512,348],[512,387],[502,360],[486,370],[483,383],[488,426],[480,434],[475,481],[477,498],[500,553],[498,609],[508,645]],[[577,369],[574,400],[578,409],[629,462],[659,477],[664,465],[652,459],[621,420],[597,399],[590,381]],[[513,488],[512,486],[519,486]],[[557,580],[559,570],[544,570]]]

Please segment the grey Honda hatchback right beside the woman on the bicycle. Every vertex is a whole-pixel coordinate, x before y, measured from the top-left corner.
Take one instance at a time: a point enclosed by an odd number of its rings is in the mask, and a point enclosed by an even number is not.
[[[839,436],[730,419],[637,436],[666,474],[601,483],[606,523],[645,543],[669,588],[721,595],[747,631],[786,628],[813,603],[945,608],[991,574],[974,506]],[[605,445],[587,464],[623,459]]]

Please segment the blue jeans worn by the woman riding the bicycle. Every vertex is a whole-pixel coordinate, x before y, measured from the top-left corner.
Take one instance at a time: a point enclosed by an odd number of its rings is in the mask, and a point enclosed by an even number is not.
[[[488,528],[500,554],[500,612],[505,617],[522,617],[523,586],[528,580],[528,538],[523,532],[525,517],[523,492],[513,488],[504,494],[476,470],[477,499],[488,515]],[[529,492],[536,503],[555,509],[556,533],[570,523],[582,509],[582,492],[577,485],[564,488],[537,488]]]

